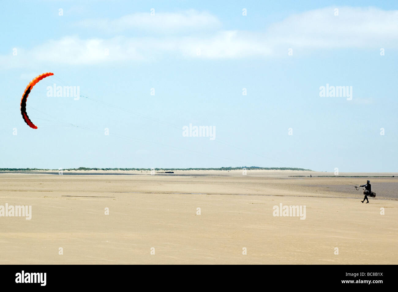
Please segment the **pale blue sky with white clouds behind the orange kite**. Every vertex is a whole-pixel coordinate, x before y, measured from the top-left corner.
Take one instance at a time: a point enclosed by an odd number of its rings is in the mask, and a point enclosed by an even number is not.
[[[398,170],[396,1],[1,5],[0,168]]]

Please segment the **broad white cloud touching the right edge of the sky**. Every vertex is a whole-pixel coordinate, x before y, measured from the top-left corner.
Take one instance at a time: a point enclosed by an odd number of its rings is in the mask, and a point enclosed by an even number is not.
[[[269,27],[275,44],[306,48],[369,48],[398,46],[398,10],[334,7],[294,14]]]

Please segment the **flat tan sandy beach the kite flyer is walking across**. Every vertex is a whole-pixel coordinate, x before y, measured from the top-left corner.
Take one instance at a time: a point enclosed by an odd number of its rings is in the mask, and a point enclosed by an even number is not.
[[[363,204],[349,184],[366,178],[350,174],[82,173],[0,174],[0,205],[32,206],[31,220],[0,217],[0,263],[398,263],[396,177],[371,178],[377,198]],[[306,218],[273,216],[279,204]]]

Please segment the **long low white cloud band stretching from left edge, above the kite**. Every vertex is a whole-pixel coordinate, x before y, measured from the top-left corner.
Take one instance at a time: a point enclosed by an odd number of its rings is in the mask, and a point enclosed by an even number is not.
[[[200,54],[198,55],[198,49]],[[40,63],[90,65],[103,62],[148,61],[173,54],[183,58],[244,58],[271,53],[265,44],[237,31],[221,31],[207,37],[113,37],[80,39],[67,36],[59,40],[18,50],[17,56],[0,56],[2,69],[35,67]]]

